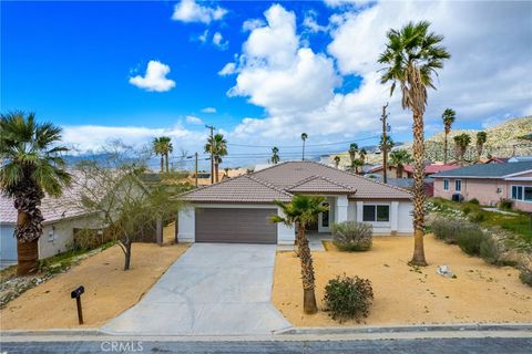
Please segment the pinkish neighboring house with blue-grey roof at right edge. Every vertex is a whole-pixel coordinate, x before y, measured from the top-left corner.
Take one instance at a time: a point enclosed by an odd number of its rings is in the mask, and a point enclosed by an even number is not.
[[[479,164],[437,175],[434,197],[463,200],[478,199],[482,205],[497,205],[512,199],[515,209],[532,211],[532,162]]]

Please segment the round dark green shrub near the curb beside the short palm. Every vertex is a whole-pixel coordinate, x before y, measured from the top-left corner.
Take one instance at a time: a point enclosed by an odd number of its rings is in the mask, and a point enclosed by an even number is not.
[[[374,300],[374,290],[368,279],[336,277],[325,287],[325,311],[340,323],[345,320],[360,321],[367,317]]]

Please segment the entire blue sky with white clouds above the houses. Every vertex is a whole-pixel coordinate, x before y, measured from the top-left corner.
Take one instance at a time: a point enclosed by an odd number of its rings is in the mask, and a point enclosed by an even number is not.
[[[410,114],[379,84],[386,32],[429,20],[452,58],[429,93],[482,128],[532,114],[532,2],[194,1],[1,2],[1,112],[33,111],[79,153],[110,139],[168,135],[202,153],[214,125],[225,162],[266,162],[370,145],[389,102],[396,142]],[[184,166],[185,167],[185,166]]]

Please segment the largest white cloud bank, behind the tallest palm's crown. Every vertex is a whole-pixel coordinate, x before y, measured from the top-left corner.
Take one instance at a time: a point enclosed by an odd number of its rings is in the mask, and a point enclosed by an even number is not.
[[[441,126],[441,112],[448,106],[457,111],[459,125],[531,111],[532,83],[524,79],[532,67],[530,3],[386,1],[347,10],[329,19],[332,41],[327,53],[318,54],[300,43],[291,12],[274,6],[265,13],[268,24],[252,31],[236,61],[238,75],[231,94],[248,96],[268,116],[243,119],[235,136],[288,138],[305,131],[318,139],[378,134],[381,106],[389,102],[392,134],[410,139],[398,132],[410,132],[411,114],[401,108],[398,93],[389,97],[389,86],[379,83],[377,64],[386,32],[410,20],[431,21],[452,54],[436,79],[438,90],[429,92],[428,125]],[[330,56],[338,72],[328,66]],[[297,69],[301,66],[307,70]],[[340,75],[358,77],[361,84],[335,93]]]

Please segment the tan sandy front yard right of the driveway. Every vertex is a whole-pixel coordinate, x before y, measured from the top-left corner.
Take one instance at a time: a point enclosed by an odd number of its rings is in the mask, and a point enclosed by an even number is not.
[[[327,281],[346,273],[372,283],[375,301],[360,324],[532,321],[532,288],[521,283],[515,269],[490,266],[432,236],[426,237],[424,247],[429,266],[419,269],[408,266],[413,248],[410,237],[375,237],[367,252],[339,252],[334,246],[329,251],[313,252],[320,308],[315,315],[303,313],[299,260],[293,251],[279,251],[273,302],[296,326],[357,325],[355,321],[339,324],[321,311]],[[457,278],[439,275],[436,270],[442,264],[449,266]]]

